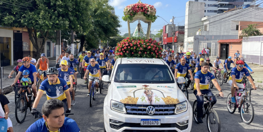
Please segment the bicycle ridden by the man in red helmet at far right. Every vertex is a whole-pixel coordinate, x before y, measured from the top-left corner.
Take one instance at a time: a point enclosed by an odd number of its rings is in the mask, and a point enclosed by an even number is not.
[[[239,88],[238,90],[241,90],[241,89],[242,88]],[[245,90],[252,90],[252,89],[253,88],[245,88]],[[240,105],[241,100],[243,99],[243,102],[241,104],[241,109],[239,109],[238,112],[240,113],[242,121],[246,124],[250,124],[254,119],[254,107],[252,103],[249,100],[247,100],[247,94],[244,91],[244,89],[243,91],[238,91],[238,90],[236,89],[235,94],[234,94],[236,103],[232,103],[231,93],[228,94],[227,102],[226,102],[227,110],[229,113],[233,114],[236,111],[236,108]],[[244,111],[244,113],[242,113],[242,111]],[[250,117],[250,114],[251,114],[251,117]],[[248,120],[245,119],[247,117],[249,117]]]

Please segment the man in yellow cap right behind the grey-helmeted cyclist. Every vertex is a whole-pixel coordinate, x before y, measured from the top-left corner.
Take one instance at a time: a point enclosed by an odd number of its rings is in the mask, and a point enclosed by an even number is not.
[[[61,68],[58,68],[58,77],[63,78],[66,81],[69,92],[72,92],[71,105],[73,106],[76,103],[75,91],[73,90],[74,70],[68,68],[68,62],[66,60],[62,60]]]

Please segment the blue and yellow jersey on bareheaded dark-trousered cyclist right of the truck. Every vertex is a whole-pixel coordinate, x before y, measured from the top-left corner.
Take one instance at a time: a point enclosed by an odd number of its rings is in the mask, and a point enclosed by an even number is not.
[[[201,89],[208,89],[209,82],[214,80],[215,76],[210,72],[203,73],[201,70],[199,70],[198,72],[195,73],[195,79],[196,78],[200,80],[200,90],[201,90]],[[194,85],[194,90],[196,90],[196,83]]]

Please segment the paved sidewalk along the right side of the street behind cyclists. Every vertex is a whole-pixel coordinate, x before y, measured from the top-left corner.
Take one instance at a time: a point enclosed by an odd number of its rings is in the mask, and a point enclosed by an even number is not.
[[[210,63],[214,64],[214,61],[216,60],[216,58],[210,58]],[[222,62],[222,65],[224,65],[224,61],[220,59]],[[263,90],[263,65],[257,65],[257,64],[251,64],[251,63],[247,63],[247,65],[249,65],[249,67],[253,70],[253,74],[251,74],[251,76],[254,79],[254,83],[257,87],[259,87],[261,90]],[[234,67],[233,64],[231,64],[231,67]],[[221,65],[219,66],[219,68],[222,68]],[[251,72],[251,71],[249,71]]]

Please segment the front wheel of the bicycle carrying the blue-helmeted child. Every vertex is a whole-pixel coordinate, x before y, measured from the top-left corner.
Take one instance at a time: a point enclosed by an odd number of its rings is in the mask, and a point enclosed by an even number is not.
[[[22,96],[17,99],[15,114],[17,122],[23,123],[27,115],[27,101],[25,97]]]

